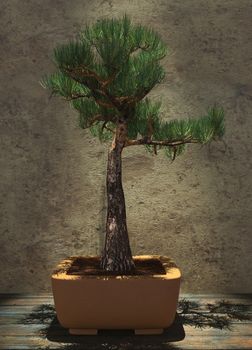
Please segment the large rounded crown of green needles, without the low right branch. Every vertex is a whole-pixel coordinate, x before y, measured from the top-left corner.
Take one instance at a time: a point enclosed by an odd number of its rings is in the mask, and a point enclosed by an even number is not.
[[[98,99],[110,103],[99,92],[97,75],[101,80],[114,75],[108,86],[112,96],[146,95],[165,75],[158,60],[166,53],[166,45],[157,33],[141,25],[133,26],[126,14],[122,19],[102,19],[81,30],[76,40],[53,50],[53,62],[58,71],[44,76],[40,84],[51,90],[52,95],[70,101],[79,112],[80,127],[86,128],[91,126],[90,121],[97,113],[104,121],[120,114],[116,108],[97,103]],[[78,99],[78,95],[83,97]],[[144,120],[140,123],[140,129],[143,129]],[[100,135],[97,128],[97,125],[92,128],[93,135]],[[130,123],[129,135],[136,136],[135,129]]]

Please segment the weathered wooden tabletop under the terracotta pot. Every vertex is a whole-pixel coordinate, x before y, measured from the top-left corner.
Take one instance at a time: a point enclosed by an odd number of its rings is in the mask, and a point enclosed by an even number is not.
[[[252,294],[182,294],[177,311],[162,335],[73,336],[59,325],[52,295],[0,294],[0,350],[252,349]]]

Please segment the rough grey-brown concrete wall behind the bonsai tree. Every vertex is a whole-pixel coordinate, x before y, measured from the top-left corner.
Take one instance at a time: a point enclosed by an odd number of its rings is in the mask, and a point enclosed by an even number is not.
[[[174,163],[142,147],[123,154],[133,254],[172,256],[183,292],[252,292],[250,0],[6,0],[1,5],[1,292],[50,292],[70,255],[99,254],[108,145],[38,81],[53,48],[83,24],[121,16],[173,50],[149,96],[164,118],[226,113],[225,145],[192,145]]]

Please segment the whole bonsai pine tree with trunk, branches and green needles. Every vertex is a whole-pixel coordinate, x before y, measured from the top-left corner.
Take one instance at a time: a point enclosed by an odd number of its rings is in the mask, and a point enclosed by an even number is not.
[[[216,106],[197,119],[162,121],[161,102],[147,94],[165,76],[160,60],[168,49],[159,35],[122,19],[103,19],[86,26],[76,40],[57,46],[57,71],[40,81],[79,112],[79,126],[101,141],[112,141],[107,163],[107,222],[101,268],[132,274],[135,264],[126,223],[122,187],[122,151],[143,145],[164,150],[172,161],[187,144],[206,144],[224,133],[224,112]]]

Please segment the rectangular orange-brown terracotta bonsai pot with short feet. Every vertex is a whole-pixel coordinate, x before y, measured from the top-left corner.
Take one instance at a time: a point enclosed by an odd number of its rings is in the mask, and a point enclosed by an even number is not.
[[[58,321],[70,334],[97,334],[98,329],[161,334],[173,323],[181,273],[171,259],[159,255],[133,257],[134,261],[158,260],[163,274],[69,274],[77,258],[61,261],[51,278]]]

